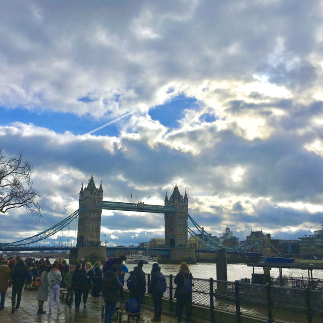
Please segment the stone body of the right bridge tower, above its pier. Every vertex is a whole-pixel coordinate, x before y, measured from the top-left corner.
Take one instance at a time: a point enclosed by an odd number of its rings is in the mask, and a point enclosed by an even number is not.
[[[183,197],[175,185],[170,198],[165,197],[166,206],[175,206],[175,213],[165,213],[165,247],[187,248],[188,198]]]

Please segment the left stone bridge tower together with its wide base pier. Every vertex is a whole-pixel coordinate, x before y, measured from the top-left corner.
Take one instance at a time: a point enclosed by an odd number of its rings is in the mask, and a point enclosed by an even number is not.
[[[88,186],[83,188],[82,184],[79,195],[79,209],[85,207],[85,210],[79,214],[77,250],[70,251],[70,263],[82,258],[92,263],[105,261],[106,247],[100,242],[102,200],[102,182],[97,189],[92,174]]]

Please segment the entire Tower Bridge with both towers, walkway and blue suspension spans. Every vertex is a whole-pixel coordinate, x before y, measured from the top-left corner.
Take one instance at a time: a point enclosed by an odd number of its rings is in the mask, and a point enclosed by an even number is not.
[[[81,186],[79,193],[79,209],[65,218],[58,224],[44,230],[43,232],[20,241],[13,243],[1,244],[0,250],[70,250],[70,259],[106,259],[107,254],[125,250],[139,250],[140,247],[105,247],[101,246],[100,230],[101,230],[101,214],[102,210],[120,210],[135,212],[150,212],[164,214],[165,218],[165,248],[142,248],[145,251],[157,253],[161,262],[181,262],[183,260],[194,263],[196,262],[195,249],[187,248],[188,233],[199,242],[200,250],[196,252],[215,253],[225,248],[228,253],[244,253],[258,254],[259,242],[247,245],[240,244],[235,247],[224,246],[218,238],[212,237],[200,227],[194,219],[188,214],[188,197],[185,191],[184,197],[175,185],[172,195],[168,198],[166,193],[164,205],[151,205],[138,203],[125,203],[103,201],[102,182],[99,188],[96,188],[93,175],[89,179],[88,186]],[[188,219],[193,223],[199,234],[188,227]],[[69,243],[70,231],[73,231],[73,223],[75,223],[76,236],[76,220],[77,222],[77,238],[73,245]],[[68,229],[68,241],[63,244],[63,229]],[[56,241],[61,235],[61,244],[50,246],[50,239]],[[54,239],[55,238],[55,239]],[[75,239],[72,239],[75,241]],[[65,241],[66,242],[66,241]],[[121,250],[121,249],[122,250]],[[120,249],[120,250],[119,250]],[[258,251],[258,252],[257,252]]]

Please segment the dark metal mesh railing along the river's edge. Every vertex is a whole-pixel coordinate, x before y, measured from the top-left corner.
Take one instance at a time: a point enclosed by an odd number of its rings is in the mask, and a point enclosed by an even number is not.
[[[125,274],[125,281],[130,273]],[[167,290],[164,298],[175,307],[175,276],[165,275]],[[192,303],[209,308],[210,321],[214,322],[217,310],[235,314],[236,322],[242,317],[266,320],[268,323],[321,323],[323,321],[323,291],[307,288],[277,287],[226,282],[210,279],[193,279]],[[146,274],[146,295],[150,274]],[[127,284],[124,285],[127,290]]]

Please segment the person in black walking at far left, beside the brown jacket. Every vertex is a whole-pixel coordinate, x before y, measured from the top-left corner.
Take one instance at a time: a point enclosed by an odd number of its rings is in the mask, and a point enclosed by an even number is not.
[[[12,295],[11,295],[11,312],[14,313],[16,309],[19,309],[21,302],[21,293],[24,287],[25,276],[28,274],[28,268],[25,263],[17,257],[15,265],[11,270],[12,277]],[[17,303],[16,303],[17,295]]]

